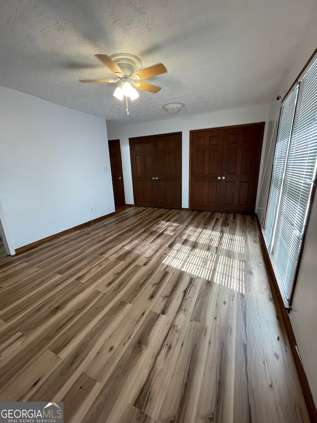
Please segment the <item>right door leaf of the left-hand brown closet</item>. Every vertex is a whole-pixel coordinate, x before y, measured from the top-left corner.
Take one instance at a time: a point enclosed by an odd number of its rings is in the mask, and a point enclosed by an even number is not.
[[[181,134],[158,136],[155,143],[157,207],[180,209]]]

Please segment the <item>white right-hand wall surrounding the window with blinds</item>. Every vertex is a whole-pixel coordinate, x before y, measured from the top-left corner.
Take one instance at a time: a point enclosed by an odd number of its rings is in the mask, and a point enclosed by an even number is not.
[[[312,16],[310,25],[307,27],[303,39],[300,41],[297,50],[294,54],[294,60],[288,72],[281,81],[277,94],[284,97],[288,89],[314,53],[317,46],[317,25],[316,15]],[[278,109],[278,104],[275,99],[272,99],[270,107],[270,132],[273,127],[275,112]],[[268,138],[271,133],[268,132]],[[275,130],[276,133],[276,130]],[[275,134],[273,140],[275,140]],[[273,143],[274,144],[274,143]],[[260,195],[259,207],[263,210],[259,213],[261,221],[262,215],[265,214],[269,178],[272,169],[274,145],[272,146],[267,172],[265,176],[265,183],[263,184],[263,191]],[[267,155],[267,151],[266,151]],[[265,158],[266,160],[266,158]],[[317,199],[315,197],[312,214],[307,230],[307,236],[304,245],[304,252],[300,265],[300,272],[297,279],[295,294],[292,304],[292,310],[289,314],[298,349],[301,354],[304,369],[306,371],[308,381],[312,390],[312,394],[317,404]]]

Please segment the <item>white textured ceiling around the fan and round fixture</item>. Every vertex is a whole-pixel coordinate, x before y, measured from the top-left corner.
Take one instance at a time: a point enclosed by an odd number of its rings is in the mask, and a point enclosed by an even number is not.
[[[276,95],[316,0],[1,0],[0,85],[112,125],[258,105]],[[130,115],[94,58],[130,53],[168,73],[147,80]],[[313,53],[313,52],[312,52]]]

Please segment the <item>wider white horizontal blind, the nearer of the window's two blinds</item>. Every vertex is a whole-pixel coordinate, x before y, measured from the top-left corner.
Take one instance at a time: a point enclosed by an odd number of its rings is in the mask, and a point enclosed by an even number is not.
[[[295,113],[277,215],[273,257],[286,297],[293,282],[316,177],[317,60],[305,73]]]

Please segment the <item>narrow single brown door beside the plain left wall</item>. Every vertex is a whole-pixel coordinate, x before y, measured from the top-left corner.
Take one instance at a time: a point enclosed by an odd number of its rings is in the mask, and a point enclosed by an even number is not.
[[[125,197],[124,197],[124,186],[123,186],[120,141],[118,139],[109,140],[108,145],[109,145],[114,204],[124,205]]]

